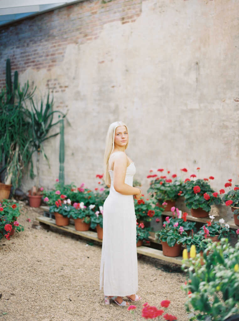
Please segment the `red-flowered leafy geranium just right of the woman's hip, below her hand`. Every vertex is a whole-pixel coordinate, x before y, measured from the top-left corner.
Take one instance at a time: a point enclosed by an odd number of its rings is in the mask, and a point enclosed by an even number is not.
[[[155,219],[160,218],[162,212],[164,211],[163,208],[156,206],[156,200],[153,199],[135,199],[134,200],[135,206],[135,215],[137,221],[140,222],[150,222],[152,218]]]

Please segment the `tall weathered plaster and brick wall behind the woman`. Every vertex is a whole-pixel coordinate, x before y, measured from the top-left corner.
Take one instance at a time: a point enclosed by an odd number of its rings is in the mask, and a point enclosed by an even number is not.
[[[96,186],[108,126],[122,120],[144,191],[149,169],[159,167],[178,175],[186,167],[184,178],[200,167],[200,178],[214,176],[211,185],[218,191],[229,178],[239,183],[238,12],[237,0],[85,1],[2,27],[0,65],[3,71],[10,57],[13,71],[20,67],[21,83],[34,82],[43,94],[47,85],[55,87],[55,108],[68,110],[66,183]],[[96,24],[91,29],[90,18]],[[41,21],[42,29],[32,34]],[[52,62],[44,56],[47,43]],[[28,65],[21,46],[30,56],[37,48]],[[52,187],[59,173],[59,137],[45,148],[51,168],[41,161],[40,183]],[[24,189],[31,185],[24,180]]]

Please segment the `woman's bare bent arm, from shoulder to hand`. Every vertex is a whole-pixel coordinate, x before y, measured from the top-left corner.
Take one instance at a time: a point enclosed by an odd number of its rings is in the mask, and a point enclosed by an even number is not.
[[[136,198],[141,196],[141,190],[137,187],[125,184],[125,175],[128,159],[124,152],[117,152],[114,155],[114,188],[116,192],[123,195],[136,195]]]

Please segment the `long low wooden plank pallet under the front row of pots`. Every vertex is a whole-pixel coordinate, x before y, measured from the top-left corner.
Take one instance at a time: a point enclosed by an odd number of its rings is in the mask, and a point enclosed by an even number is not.
[[[56,221],[53,218],[45,217],[45,216],[37,217],[36,220],[39,221],[40,224],[42,224],[42,225],[54,226],[60,230],[74,233],[74,234],[84,237],[86,239],[92,239],[94,241],[102,243],[102,240],[98,239],[97,233],[94,231],[77,231],[77,230],[75,230],[75,226],[71,225],[71,224],[67,225],[67,226],[58,226],[58,225],[56,225]],[[153,239],[152,236],[150,237],[150,240],[155,242],[155,240]],[[182,257],[181,256],[177,256],[177,257],[164,256],[163,252],[161,250],[158,250],[158,249],[155,249],[152,247],[139,246],[139,247],[137,247],[137,253],[142,254],[142,255],[146,255],[146,256],[150,256],[150,257],[155,257],[159,260],[167,261],[170,263],[176,263],[176,264],[182,265]]]

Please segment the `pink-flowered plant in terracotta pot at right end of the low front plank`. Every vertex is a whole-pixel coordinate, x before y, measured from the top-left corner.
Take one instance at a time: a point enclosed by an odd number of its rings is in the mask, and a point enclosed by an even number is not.
[[[160,241],[165,256],[179,256],[181,251],[181,239],[187,236],[183,227],[179,224],[170,224],[169,216],[163,223],[163,228],[155,232],[155,239]]]

